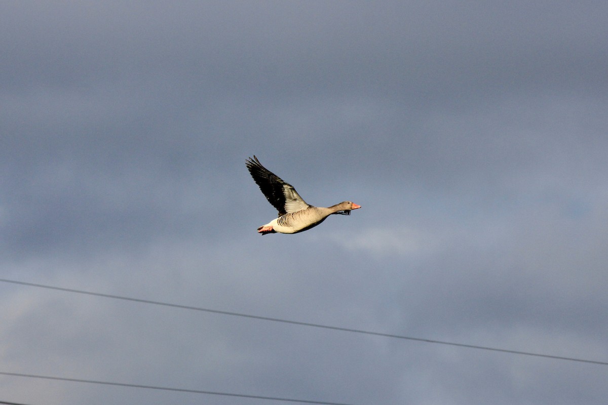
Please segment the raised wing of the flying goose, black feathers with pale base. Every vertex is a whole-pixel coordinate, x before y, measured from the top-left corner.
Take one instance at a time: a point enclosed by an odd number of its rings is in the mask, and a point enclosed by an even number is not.
[[[255,155],[254,158],[247,159],[245,165],[268,202],[277,209],[278,216],[295,213],[295,211],[309,207],[300,194],[295,191],[294,186],[264,168]]]

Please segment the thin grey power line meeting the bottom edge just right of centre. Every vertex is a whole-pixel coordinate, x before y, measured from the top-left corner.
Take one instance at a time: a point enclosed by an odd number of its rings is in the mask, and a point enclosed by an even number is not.
[[[191,390],[191,389],[185,389],[185,388],[145,386],[145,385],[141,385],[141,384],[112,383],[110,381],[95,381],[93,379],[65,378],[65,377],[55,377],[55,376],[49,376],[49,375],[34,375],[34,374],[22,374],[22,373],[9,373],[9,372],[1,372],[1,371],[0,371],[0,374],[1,375],[16,376],[16,377],[43,378],[43,379],[54,379],[54,380],[58,380],[58,381],[71,381],[73,383],[103,384],[103,385],[106,385],[106,386],[144,388],[144,389],[151,389],[151,390],[164,390],[164,391],[173,391],[173,392],[188,392],[188,393],[204,393],[204,394],[208,394],[208,395],[238,396],[240,398],[254,398],[256,400],[297,402],[297,403],[300,403],[300,404],[353,405],[353,404],[340,403],[340,402],[294,400],[293,398],[279,398],[277,396],[248,395],[248,394],[243,394],[243,393],[230,393],[230,392]],[[2,402],[0,402],[0,404],[2,404]],[[10,403],[5,403],[5,404],[10,404]],[[15,404],[15,405],[22,405],[22,404]]]

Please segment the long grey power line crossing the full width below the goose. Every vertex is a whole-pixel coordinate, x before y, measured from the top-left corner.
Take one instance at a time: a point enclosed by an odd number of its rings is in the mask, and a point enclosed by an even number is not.
[[[104,298],[122,299],[124,301],[142,302],[143,304],[162,305],[164,307],[173,307],[173,308],[182,308],[182,309],[194,310],[194,311],[203,311],[203,312],[209,312],[209,313],[216,313],[216,314],[220,314],[220,315],[240,316],[241,318],[261,319],[263,321],[281,322],[283,324],[302,325],[302,326],[331,329],[331,330],[341,330],[342,332],[362,333],[364,335],[383,336],[385,338],[395,338],[395,339],[434,343],[434,344],[443,344],[443,345],[450,345],[450,346],[457,346],[457,347],[468,347],[469,349],[489,350],[491,352],[510,353],[513,355],[535,356],[535,357],[543,357],[543,358],[566,360],[566,361],[578,361],[578,362],[584,362],[584,363],[589,363],[589,364],[599,364],[601,366],[608,366],[608,362],[606,362],[606,361],[596,361],[596,360],[587,360],[587,359],[580,359],[580,358],[573,358],[573,357],[544,355],[542,353],[522,352],[521,350],[499,349],[497,347],[487,347],[487,346],[480,346],[480,345],[474,345],[474,344],[446,342],[446,341],[440,341],[440,340],[434,340],[434,339],[413,338],[412,336],[393,335],[391,333],[371,332],[369,330],[343,328],[343,327],[331,326],[331,325],[313,324],[310,322],[290,321],[289,319],[270,318],[268,316],[249,315],[249,314],[230,312],[230,311],[213,310],[213,309],[209,309],[209,308],[191,307],[190,305],[171,304],[169,302],[151,301],[148,299],[139,299],[139,298],[124,297],[124,296],[119,296],[119,295],[94,293],[91,291],[74,290],[72,288],[54,287],[52,285],[34,284],[34,283],[15,281],[15,280],[9,280],[9,279],[0,279],[0,282],[27,285],[29,287],[47,288],[49,290],[67,291],[69,293],[86,294],[86,295],[92,295],[92,296],[104,297]]]

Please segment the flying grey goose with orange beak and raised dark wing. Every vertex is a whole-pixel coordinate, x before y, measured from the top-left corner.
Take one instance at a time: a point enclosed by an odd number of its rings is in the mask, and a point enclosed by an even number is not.
[[[331,214],[350,215],[352,209],[361,205],[344,201],[328,208],[308,205],[294,186],[264,168],[257,157],[248,158],[245,165],[261,192],[274,208],[278,217],[258,228],[258,233],[299,233],[319,225]]]

